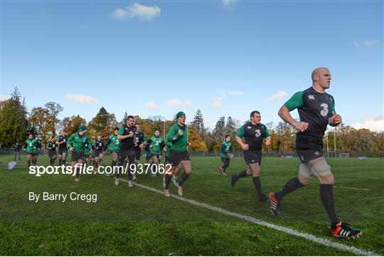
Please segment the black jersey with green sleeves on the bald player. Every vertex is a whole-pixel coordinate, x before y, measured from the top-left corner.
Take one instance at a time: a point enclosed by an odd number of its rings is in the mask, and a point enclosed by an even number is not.
[[[329,117],[336,113],[332,95],[319,93],[314,88],[295,93],[284,105],[289,111],[297,109],[301,122],[309,124],[304,132],[297,132],[297,140],[303,137],[315,137],[322,140],[329,122]]]

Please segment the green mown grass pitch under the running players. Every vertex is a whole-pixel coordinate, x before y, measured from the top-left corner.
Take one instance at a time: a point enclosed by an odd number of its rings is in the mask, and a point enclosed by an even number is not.
[[[196,206],[176,197],[166,198],[143,187],[114,186],[110,177],[28,174],[26,157],[16,171],[6,170],[11,155],[0,155],[0,255],[191,255],[191,256],[351,256],[354,247],[384,254],[383,159],[329,159],[336,179],[334,196],[342,221],[362,229],[355,241],[332,238],[329,220],[319,197],[319,182],[289,194],[274,218],[269,205],[257,201],[250,177],[230,187],[230,175],[217,172],[220,159],[192,158],[193,172],[184,184],[185,199],[250,216],[269,224],[302,231],[346,248],[310,241],[236,216]],[[38,165],[48,165],[40,156]],[[56,162],[57,163],[57,162]],[[103,164],[110,164],[105,157]],[[297,175],[298,159],[264,158],[265,193],[281,188]],[[235,158],[229,174],[245,169]],[[124,177],[124,179],[126,179]],[[139,175],[139,184],[162,190],[161,176]],[[170,186],[171,194],[177,194]],[[28,192],[97,194],[97,203],[85,201],[28,201]]]

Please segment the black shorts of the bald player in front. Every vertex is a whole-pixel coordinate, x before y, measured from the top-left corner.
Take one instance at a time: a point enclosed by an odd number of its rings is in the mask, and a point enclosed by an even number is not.
[[[304,137],[296,140],[296,152],[303,164],[324,157],[323,154],[323,140]]]

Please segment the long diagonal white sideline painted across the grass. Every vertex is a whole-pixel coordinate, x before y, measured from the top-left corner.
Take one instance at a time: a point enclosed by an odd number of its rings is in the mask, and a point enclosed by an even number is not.
[[[110,177],[107,174],[105,174],[105,176]],[[128,182],[126,179],[120,179],[119,178],[119,180],[121,180],[123,182]],[[134,185],[136,185],[137,187],[142,187],[143,189],[149,190],[151,192],[163,194],[162,191],[154,189],[152,187],[146,187],[146,186],[144,186],[142,184],[137,184],[137,183],[134,184]],[[183,198],[181,196],[176,196],[174,194],[171,194],[171,197],[173,197],[175,199],[178,199],[180,201],[185,201],[188,204],[192,204],[192,205],[200,206],[202,208],[210,209],[211,211],[216,211],[216,212],[218,212],[220,214],[225,214],[225,215],[228,215],[228,216],[233,216],[233,217],[242,219],[244,221],[248,221],[250,223],[257,224],[257,225],[260,225],[260,226],[266,226],[267,228],[275,229],[277,231],[281,231],[283,233],[290,234],[290,235],[293,235],[293,236],[299,236],[299,237],[305,238],[305,239],[307,239],[309,241],[312,241],[314,243],[319,243],[319,244],[321,244],[323,246],[326,246],[326,247],[331,246],[331,247],[334,247],[334,248],[338,248],[339,250],[342,250],[342,251],[348,251],[348,252],[351,252],[351,253],[355,253],[356,255],[360,255],[360,256],[379,256],[378,253],[374,253],[373,251],[366,251],[366,250],[363,250],[363,249],[356,248],[354,246],[346,246],[343,243],[336,243],[336,242],[331,241],[329,239],[320,238],[320,237],[314,236],[312,234],[306,234],[304,232],[300,232],[300,231],[297,231],[297,230],[294,230],[294,229],[289,229],[289,228],[284,227],[284,226],[274,225],[272,223],[268,223],[268,222],[262,221],[260,219],[255,219],[255,218],[253,218],[251,216],[245,216],[245,215],[242,215],[242,214],[238,214],[236,212],[227,211],[227,210],[221,209],[219,207],[215,207],[215,206],[212,206],[212,205],[209,205],[209,204],[204,204],[204,203],[201,203],[201,202],[198,202],[198,201],[194,201],[194,200],[191,200],[191,199],[186,199],[186,198]]]

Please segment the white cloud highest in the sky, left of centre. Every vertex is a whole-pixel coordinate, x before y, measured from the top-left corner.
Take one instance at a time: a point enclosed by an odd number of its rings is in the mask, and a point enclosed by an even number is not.
[[[114,19],[124,20],[138,18],[142,21],[150,21],[160,16],[161,9],[158,6],[144,6],[138,3],[127,6],[127,9],[116,9],[112,13]]]

